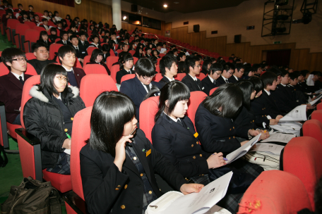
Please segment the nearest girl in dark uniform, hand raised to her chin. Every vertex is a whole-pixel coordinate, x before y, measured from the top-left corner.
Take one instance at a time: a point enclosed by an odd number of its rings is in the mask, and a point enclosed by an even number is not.
[[[90,213],[144,213],[162,196],[155,172],[183,194],[203,187],[184,180],[153,148],[144,132],[136,130],[136,118],[136,107],[129,96],[119,92],[97,96],[90,139],[80,152],[81,179]]]

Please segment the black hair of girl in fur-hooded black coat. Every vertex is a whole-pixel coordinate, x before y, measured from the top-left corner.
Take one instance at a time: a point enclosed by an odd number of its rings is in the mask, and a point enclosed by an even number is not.
[[[63,75],[67,78],[67,71],[61,65],[48,64],[42,68],[40,73],[40,84],[38,85],[38,91],[42,92],[47,89],[49,94],[59,94],[55,88],[54,78],[56,75]],[[66,87],[64,92],[61,92],[61,99],[65,99],[68,93],[68,82],[66,82]]]

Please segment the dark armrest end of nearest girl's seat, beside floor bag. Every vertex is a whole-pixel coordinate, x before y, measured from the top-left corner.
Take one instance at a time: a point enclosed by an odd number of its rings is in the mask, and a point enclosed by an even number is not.
[[[74,191],[68,191],[63,196],[64,201],[78,214],[89,213],[86,202]]]

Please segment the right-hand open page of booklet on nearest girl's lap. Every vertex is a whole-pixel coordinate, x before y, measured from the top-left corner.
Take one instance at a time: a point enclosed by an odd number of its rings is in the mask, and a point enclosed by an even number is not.
[[[232,172],[217,178],[198,193],[191,193],[179,197],[170,206],[163,210],[162,214],[203,214],[215,206],[226,194]],[[154,202],[149,206],[153,206]],[[157,209],[157,208],[156,208]],[[157,211],[157,210],[156,210]],[[159,213],[159,212],[157,212]]]

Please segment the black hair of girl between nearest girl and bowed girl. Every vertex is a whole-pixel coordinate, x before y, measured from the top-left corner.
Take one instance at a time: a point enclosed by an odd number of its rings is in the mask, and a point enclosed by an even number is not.
[[[167,115],[170,115],[170,113],[174,111],[177,102],[190,98],[189,88],[186,84],[177,80],[165,84],[160,92],[159,111],[155,114],[155,122],[157,121],[157,118],[160,118],[162,112],[165,111]],[[167,100],[169,101],[169,108],[165,108],[165,101]]]

